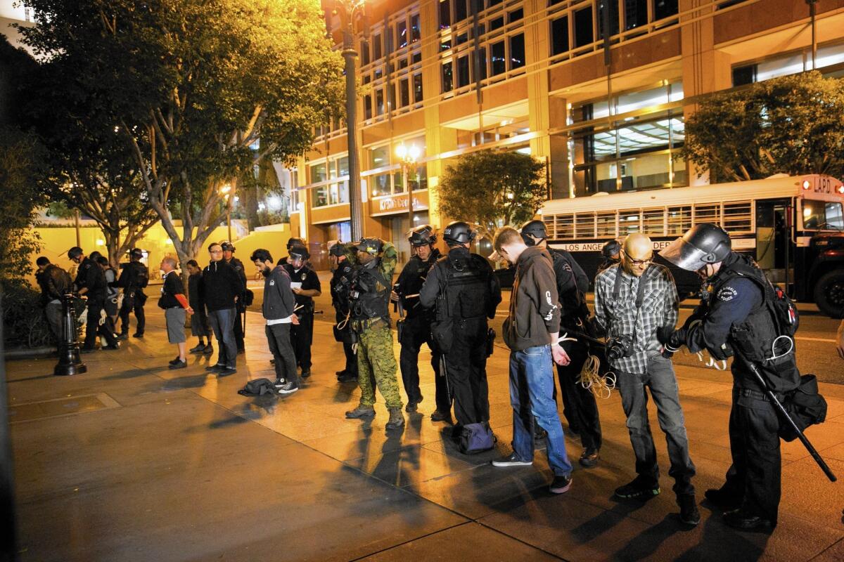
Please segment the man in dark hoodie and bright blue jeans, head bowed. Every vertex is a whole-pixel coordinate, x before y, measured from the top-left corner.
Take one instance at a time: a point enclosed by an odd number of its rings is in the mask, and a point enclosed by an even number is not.
[[[495,251],[516,265],[510,315],[504,321],[504,342],[510,348],[510,403],[513,407],[513,452],[492,462],[495,467],[533,464],[533,420],[548,431],[548,463],[554,471],[549,490],[571,487],[571,463],[565,452],[563,426],[554,399],[552,360],[571,360],[559,343],[560,306],[554,260],[547,249],[528,247],[513,227],[495,233]]]

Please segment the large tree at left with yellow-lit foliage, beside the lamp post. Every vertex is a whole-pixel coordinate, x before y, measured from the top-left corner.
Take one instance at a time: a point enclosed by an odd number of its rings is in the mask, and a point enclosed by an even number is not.
[[[116,118],[182,261],[224,222],[243,174],[304,153],[325,108],[342,103],[342,59],[318,3],[25,3],[37,25],[24,41],[75,68],[87,103]]]

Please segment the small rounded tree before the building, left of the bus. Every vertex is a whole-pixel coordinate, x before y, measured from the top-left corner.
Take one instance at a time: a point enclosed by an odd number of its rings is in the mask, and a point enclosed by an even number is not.
[[[469,153],[446,166],[439,197],[448,217],[477,222],[488,232],[500,222],[520,224],[548,198],[545,165],[521,153]]]

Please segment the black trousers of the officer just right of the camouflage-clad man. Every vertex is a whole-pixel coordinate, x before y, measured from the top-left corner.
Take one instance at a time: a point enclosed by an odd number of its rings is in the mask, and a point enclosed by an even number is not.
[[[419,392],[419,350],[422,344],[430,349],[430,366],[434,369],[434,383],[436,388],[436,409],[449,412],[452,400],[448,397],[448,385],[445,377],[441,377],[441,354],[436,347],[434,338],[430,335],[430,321],[419,315],[404,320],[402,329],[402,351],[398,355],[398,366],[402,371],[404,392],[408,394],[408,402],[419,402],[422,394]]]

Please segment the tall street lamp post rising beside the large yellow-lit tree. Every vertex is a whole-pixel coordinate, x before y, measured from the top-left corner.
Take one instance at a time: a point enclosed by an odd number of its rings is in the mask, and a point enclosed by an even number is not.
[[[349,221],[353,240],[363,238],[363,210],[360,197],[360,159],[357,137],[357,91],[355,89],[354,19],[364,15],[364,0],[337,0],[335,12],[343,28],[343,58],[346,72],[346,141],[349,145]]]

